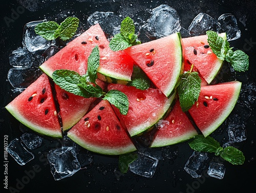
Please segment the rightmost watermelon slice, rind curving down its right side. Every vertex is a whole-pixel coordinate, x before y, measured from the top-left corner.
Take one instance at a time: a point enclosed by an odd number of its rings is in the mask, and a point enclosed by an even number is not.
[[[236,105],[241,82],[231,81],[201,87],[198,102],[189,110],[204,136],[214,132]]]

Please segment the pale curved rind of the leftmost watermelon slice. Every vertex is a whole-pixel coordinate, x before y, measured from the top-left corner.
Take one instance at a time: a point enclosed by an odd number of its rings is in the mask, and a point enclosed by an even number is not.
[[[34,124],[33,122],[29,121],[25,118],[19,111],[15,108],[14,105],[9,103],[5,108],[15,117],[19,122],[26,125],[27,127],[31,128],[31,130],[50,137],[62,138],[61,130],[59,127],[59,131],[52,131],[50,128],[42,127],[40,125]]]

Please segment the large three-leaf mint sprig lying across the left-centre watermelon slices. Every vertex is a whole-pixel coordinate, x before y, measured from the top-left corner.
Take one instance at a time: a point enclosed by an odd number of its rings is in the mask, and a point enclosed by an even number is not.
[[[115,105],[120,113],[126,115],[129,110],[127,96],[117,90],[108,93],[103,92],[102,88],[96,83],[97,69],[99,68],[99,48],[96,46],[88,58],[88,70],[85,75],[70,70],[55,70],[52,74],[53,81],[61,89],[85,98],[102,97]]]

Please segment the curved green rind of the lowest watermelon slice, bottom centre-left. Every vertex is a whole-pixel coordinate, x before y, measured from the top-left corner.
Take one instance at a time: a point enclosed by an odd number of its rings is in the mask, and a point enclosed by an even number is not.
[[[72,130],[70,130],[67,135],[70,139],[72,139],[75,143],[77,143],[81,147],[86,148],[91,152],[95,152],[103,155],[121,155],[121,154],[131,153],[137,150],[132,143],[126,147],[122,146],[118,148],[114,148],[114,147],[103,148],[102,146],[97,146],[96,144],[92,145],[91,143],[87,143],[87,142],[84,142],[84,140],[81,140],[79,137],[77,137],[75,133],[72,132]]]

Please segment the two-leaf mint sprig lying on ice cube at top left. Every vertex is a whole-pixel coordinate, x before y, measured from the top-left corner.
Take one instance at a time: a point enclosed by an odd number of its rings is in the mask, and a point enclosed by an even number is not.
[[[47,40],[59,37],[66,41],[75,35],[78,24],[79,19],[77,17],[67,17],[60,25],[53,21],[43,22],[36,25],[35,33]]]

